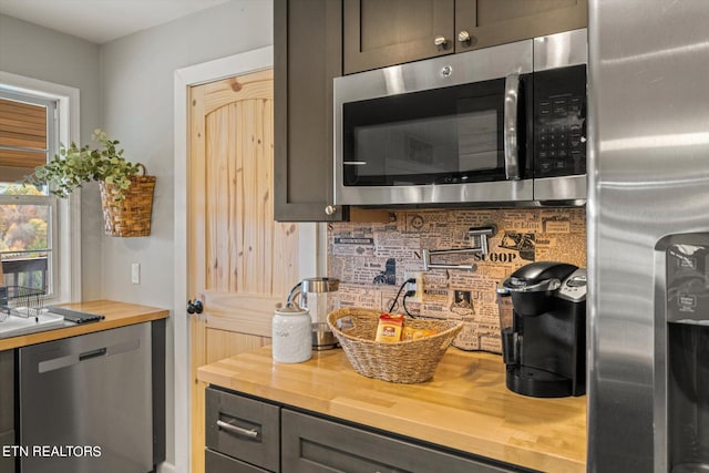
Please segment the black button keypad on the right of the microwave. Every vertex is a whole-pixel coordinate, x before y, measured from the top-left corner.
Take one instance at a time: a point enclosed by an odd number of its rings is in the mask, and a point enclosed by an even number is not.
[[[538,101],[537,172],[541,177],[586,172],[583,97],[556,95]]]

